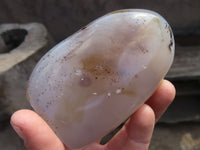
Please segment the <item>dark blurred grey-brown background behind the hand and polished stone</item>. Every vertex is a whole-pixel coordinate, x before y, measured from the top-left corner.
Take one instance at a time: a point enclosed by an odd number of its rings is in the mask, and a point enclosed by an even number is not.
[[[175,35],[166,78],[177,95],[156,124],[150,150],[200,150],[199,0],[0,0],[0,149],[25,149],[9,119],[18,109],[31,109],[25,89],[41,56],[92,20],[125,8],[160,13]]]

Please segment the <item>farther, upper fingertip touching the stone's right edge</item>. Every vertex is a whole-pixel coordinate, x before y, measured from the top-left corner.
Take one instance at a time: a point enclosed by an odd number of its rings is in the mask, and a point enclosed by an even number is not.
[[[165,112],[175,97],[175,88],[167,80],[162,80],[155,93],[147,100],[148,104],[155,112],[156,121]]]

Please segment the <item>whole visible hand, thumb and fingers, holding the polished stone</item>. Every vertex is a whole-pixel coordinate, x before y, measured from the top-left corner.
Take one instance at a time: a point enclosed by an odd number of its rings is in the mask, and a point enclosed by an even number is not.
[[[148,150],[155,123],[174,97],[174,86],[162,80],[155,93],[107,144],[100,145],[98,141],[83,150]],[[28,150],[70,150],[34,111],[15,112],[11,125]]]

